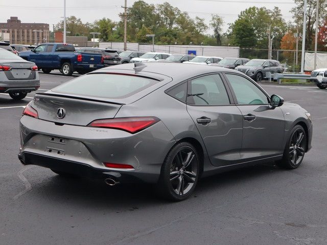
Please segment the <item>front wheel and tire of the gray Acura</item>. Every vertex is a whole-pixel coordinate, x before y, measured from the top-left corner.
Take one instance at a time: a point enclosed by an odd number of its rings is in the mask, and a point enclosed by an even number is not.
[[[307,134],[302,126],[296,125],[290,135],[285,146],[283,159],[277,161],[276,164],[286,169],[295,169],[302,163],[305,156]]]

